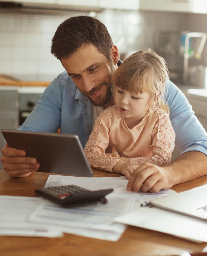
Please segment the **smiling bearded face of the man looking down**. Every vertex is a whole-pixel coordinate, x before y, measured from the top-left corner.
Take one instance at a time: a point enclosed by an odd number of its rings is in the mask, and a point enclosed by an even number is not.
[[[69,58],[61,59],[61,62],[75,85],[93,105],[104,106],[110,101],[110,82],[117,65],[95,46],[82,46]]]

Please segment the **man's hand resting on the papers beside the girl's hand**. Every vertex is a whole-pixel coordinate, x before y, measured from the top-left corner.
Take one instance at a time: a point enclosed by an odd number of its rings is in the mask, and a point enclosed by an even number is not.
[[[144,163],[131,174],[127,190],[156,193],[160,189],[170,188],[174,185],[170,174],[171,171],[167,166],[160,167]]]

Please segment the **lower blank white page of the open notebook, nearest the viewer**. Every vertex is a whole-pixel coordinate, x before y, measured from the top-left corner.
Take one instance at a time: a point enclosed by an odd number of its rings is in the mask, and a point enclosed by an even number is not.
[[[207,242],[207,223],[156,207],[140,209],[116,217],[114,221],[155,230],[195,242]]]

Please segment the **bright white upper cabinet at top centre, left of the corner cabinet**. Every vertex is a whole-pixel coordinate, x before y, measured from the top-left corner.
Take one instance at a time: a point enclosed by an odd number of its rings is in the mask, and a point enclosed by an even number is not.
[[[100,0],[100,8],[138,10],[139,0]]]

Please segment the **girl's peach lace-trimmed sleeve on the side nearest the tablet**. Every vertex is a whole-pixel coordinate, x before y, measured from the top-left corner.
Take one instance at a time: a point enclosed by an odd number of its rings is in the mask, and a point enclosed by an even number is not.
[[[120,161],[118,157],[105,154],[105,150],[109,145],[109,118],[113,117],[115,111],[116,108],[109,107],[100,113],[84,149],[91,167],[110,172],[112,172],[115,163]]]

